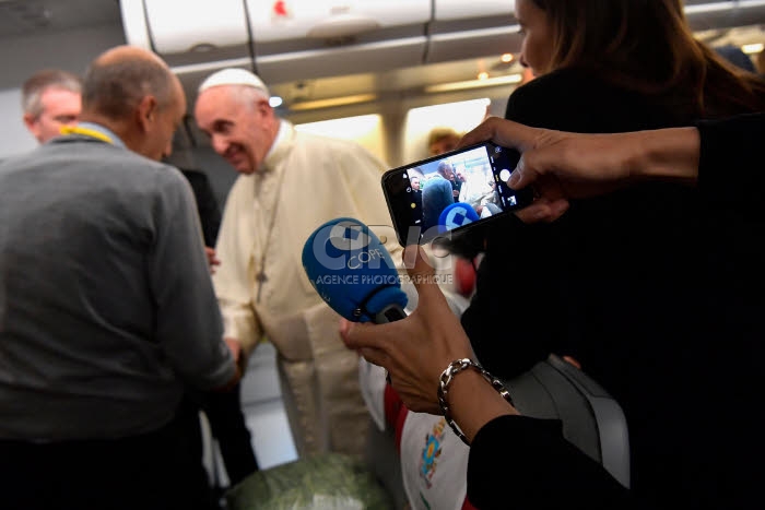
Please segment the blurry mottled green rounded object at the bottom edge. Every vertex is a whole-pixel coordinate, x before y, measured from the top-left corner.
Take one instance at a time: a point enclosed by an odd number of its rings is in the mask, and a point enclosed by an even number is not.
[[[391,510],[366,464],[325,453],[251,474],[226,493],[229,510]]]

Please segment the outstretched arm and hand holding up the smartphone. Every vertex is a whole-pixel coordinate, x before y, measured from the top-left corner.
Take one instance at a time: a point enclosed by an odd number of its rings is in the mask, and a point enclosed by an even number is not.
[[[763,202],[756,199],[765,177],[755,162],[764,135],[765,114],[616,134],[569,133],[491,118],[460,145],[493,140],[522,153],[508,185],[537,190],[540,199],[518,213],[531,223],[557,220],[569,199],[645,180],[698,185],[710,202],[762,212]]]

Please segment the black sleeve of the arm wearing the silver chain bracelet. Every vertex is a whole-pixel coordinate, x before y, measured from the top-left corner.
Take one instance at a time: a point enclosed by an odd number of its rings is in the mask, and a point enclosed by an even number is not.
[[[468,499],[481,510],[633,509],[629,491],[563,438],[561,422],[502,416],[473,439]]]

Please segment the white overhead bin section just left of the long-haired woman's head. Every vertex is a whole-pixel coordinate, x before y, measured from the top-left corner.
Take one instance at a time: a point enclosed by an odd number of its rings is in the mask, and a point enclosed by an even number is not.
[[[426,63],[520,50],[521,37],[506,0],[434,0]]]

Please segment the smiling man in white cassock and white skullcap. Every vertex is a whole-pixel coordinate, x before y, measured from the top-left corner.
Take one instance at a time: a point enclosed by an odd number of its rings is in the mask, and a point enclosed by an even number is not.
[[[228,193],[213,275],[225,336],[243,361],[258,342],[276,347],[282,394],[299,455],[361,454],[368,413],[358,359],[339,317],[316,293],[301,253],[322,223],[350,216],[389,225],[386,166],[361,145],[297,131],[269,105],[255,74],[225,69],[205,79],[195,107],[212,147],[240,175]],[[396,256],[396,236],[386,247]]]

